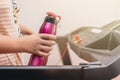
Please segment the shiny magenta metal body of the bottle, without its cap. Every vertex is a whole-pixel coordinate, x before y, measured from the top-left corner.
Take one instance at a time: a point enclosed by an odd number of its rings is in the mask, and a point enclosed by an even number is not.
[[[46,34],[56,34],[56,25],[50,22],[44,22],[39,30],[39,33],[46,33]],[[29,65],[30,66],[42,66],[46,65],[48,57],[40,57],[37,55],[32,55]]]

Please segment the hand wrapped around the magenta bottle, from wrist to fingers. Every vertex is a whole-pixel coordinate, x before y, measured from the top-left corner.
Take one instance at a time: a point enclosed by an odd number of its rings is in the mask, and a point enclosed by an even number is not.
[[[51,34],[33,34],[20,38],[20,47],[24,52],[36,54],[39,56],[48,56],[55,44],[55,35]]]

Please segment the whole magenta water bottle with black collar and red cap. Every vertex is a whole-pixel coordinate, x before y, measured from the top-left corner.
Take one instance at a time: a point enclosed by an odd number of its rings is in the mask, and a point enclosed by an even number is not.
[[[57,24],[61,17],[53,12],[47,12],[47,16],[39,30],[39,33],[54,34],[56,35]],[[47,64],[48,57],[40,57],[37,55],[31,55],[29,66],[44,66]]]

